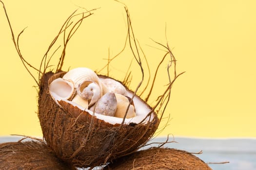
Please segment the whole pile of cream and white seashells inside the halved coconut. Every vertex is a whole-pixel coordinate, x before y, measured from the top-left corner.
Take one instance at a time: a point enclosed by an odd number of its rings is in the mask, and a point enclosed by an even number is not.
[[[126,88],[114,79],[99,78],[89,68],[69,70],[62,78],[50,84],[49,91],[56,101],[69,101],[83,110],[89,109],[97,114],[118,118],[123,118],[125,114],[125,118],[136,116]]]

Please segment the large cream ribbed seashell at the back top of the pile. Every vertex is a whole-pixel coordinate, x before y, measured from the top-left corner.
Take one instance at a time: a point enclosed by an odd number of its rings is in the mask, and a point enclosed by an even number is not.
[[[69,70],[66,74],[63,75],[63,79],[72,80],[74,82],[75,88],[78,88],[78,85],[84,81],[93,81],[99,85],[98,75],[89,68],[74,68]]]

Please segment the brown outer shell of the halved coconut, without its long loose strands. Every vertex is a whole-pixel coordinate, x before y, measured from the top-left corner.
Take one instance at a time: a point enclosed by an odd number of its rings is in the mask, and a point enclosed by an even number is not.
[[[39,84],[39,120],[43,137],[56,155],[76,167],[95,167],[138,150],[155,133],[158,117],[147,124],[110,124],[49,93],[49,84],[65,72],[44,73]]]

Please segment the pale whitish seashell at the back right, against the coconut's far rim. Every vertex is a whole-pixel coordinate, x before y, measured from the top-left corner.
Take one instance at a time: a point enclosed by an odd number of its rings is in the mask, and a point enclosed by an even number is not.
[[[108,92],[118,93],[121,95],[126,95],[127,91],[125,87],[118,81],[110,78],[101,80],[102,86],[105,85],[105,88],[108,89]]]

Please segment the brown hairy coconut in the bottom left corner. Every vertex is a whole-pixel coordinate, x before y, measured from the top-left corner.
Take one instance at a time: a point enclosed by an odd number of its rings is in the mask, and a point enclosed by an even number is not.
[[[76,170],[61,161],[43,142],[0,144],[0,170]]]

